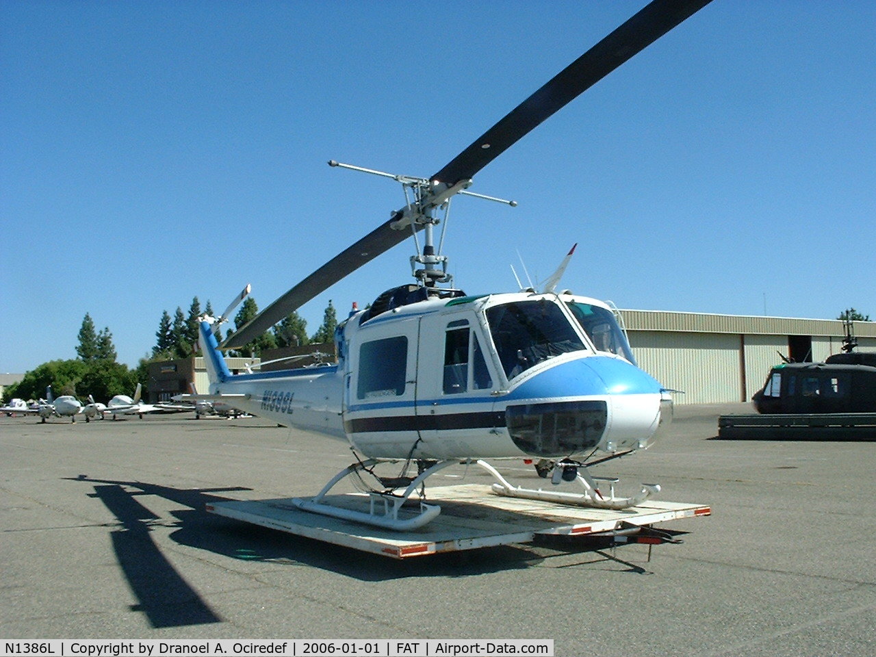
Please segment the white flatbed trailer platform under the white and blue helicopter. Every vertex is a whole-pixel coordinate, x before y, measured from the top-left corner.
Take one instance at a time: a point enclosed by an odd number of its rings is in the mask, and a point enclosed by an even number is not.
[[[540,535],[626,535],[667,520],[710,515],[707,505],[646,500],[639,506],[610,510],[508,498],[490,486],[463,484],[428,489],[428,502],[442,512],[426,526],[394,532],[303,511],[296,498],[214,502],[207,511],[282,532],[322,540],[394,559],[444,552],[528,543]],[[333,505],[365,510],[367,495],[329,496]]]

